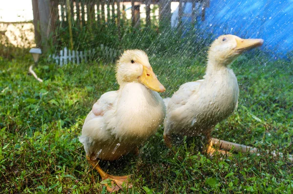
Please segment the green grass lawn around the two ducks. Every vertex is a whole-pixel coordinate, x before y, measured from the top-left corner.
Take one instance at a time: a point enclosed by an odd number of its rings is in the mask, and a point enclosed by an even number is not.
[[[183,55],[188,56],[188,55]],[[209,157],[190,143],[169,151],[163,127],[140,155],[102,162],[110,174],[132,174],[134,187],[122,193],[288,193],[293,194],[293,66],[265,57],[238,58],[233,64],[240,87],[239,108],[219,123],[212,136],[251,145],[245,153]],[[202,78],[204,59],[151,56],[150,63],[171,96]],[[105,193],[98,173],[79,142],[83,121],[105,92],[117,90],[113,64],[62,68],[40,62],[44,82],[28,75],[27,61],[0,59],[0,193]],[[272,157],[277,150],[285,158]]]

